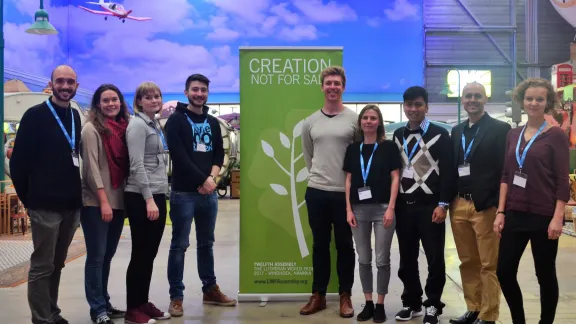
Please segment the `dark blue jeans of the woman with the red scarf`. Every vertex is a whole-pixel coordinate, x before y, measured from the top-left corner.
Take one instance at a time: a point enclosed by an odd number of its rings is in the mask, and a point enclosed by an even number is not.
[[[80,215],[86,241],[84,289],[92,319],[106,315],[112,307],[108,294],[108,277],[110,263],[124,227],[124,211],[113,210],[112,215],[110,222],[103,221],[100,207],[84,207]]]

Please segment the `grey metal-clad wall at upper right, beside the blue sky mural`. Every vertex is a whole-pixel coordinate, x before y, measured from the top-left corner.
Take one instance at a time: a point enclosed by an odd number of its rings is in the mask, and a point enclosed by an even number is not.
[[[511,17],[509,0],[427,0],[424,25],[425,28],[448,25],[473,27],[478,25],[471,17],[474,16],[483,26],[510,26],[515,18],[517,83],[528,76],[540,74],[549,77],[550,65],[568,60],[568,44],[575,31],[549,0],[517,0],[514,5],[516,15]],[[533,15],[537,16],[537,20]],[[513,34],[510,31],[504,28],[486,33],[429,30],[425,35],[425,83],[431,101],[456,102],[456,98],[439,94],[446,82],[448,69],[490,69],[493,94],[490,101],[503,103],[510,100],[505,95],[514,86],[510,64],[513,60]]]

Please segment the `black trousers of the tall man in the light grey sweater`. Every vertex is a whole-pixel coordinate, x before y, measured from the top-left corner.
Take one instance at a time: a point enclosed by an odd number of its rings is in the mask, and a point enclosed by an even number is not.
[[[346,221],[346,194],[344,192],[306,189],[306,207],[308,221],[312,229],[314,246],[312,248],[313,281],[312,292],[326,295],[330,282],[330,240],[334,226],[336,243],[339,293],[352,293],[356,254],[352,230]]]

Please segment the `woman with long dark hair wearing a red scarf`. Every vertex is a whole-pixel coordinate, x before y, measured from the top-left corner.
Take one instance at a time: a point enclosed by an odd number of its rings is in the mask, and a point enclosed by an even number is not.
[[[128,176],[126,127],[130,115],[124,96],[111,84],[94,92],[88,122],[82,127],[82,201],[86,241],[84,288],[90,317],[112,324],[124,312],[110,304],[108,277],[124,228],[124,187]]]

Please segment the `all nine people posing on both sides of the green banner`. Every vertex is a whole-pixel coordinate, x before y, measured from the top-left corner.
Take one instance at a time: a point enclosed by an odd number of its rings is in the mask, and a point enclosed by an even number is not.
[[[184,93],[189,103],[178,103],[164,129],[158,121],[162,92],[156,84],[144,82],[138,87],[132,118],[121,91],[104,84],[95,91],[82,127],[78,111],[70,105],[79,85],[76,73],[65,65],[53,71],[52,96],[25,112],[10,159],[14,187],[32,224],[28,283],[32,323],[68,323],[60,315],[58,288],[80,224],[87,249],[85,293],[94,323],[124,318],[126,323],[149,324],[183,315],[184,258],[193,221],[203,302],[236,305],[220,291],[214,273],[215,189],[224,149],[218,121],[206,106],[209,83],[200,74],[188,77]],[[423,323],[437,324],[445,306],[449,211],[467,305],[467,311],[450,322],[495,323],[502,291],[513,322],[525,323],[517,271],[530,242],[541,291],[540,323],[553,323],[559,295],[555,260],[569,200],[569,143],[558,127],[545,120],[558,104],[550,82],[529,79],[517,86],[514,100],[528,121],[515,129],[484,111],[487,97],[481,84],[467,84],[462,104],[468,119],[451,134],[426,118],[427,91],[410,87],[403,104],[408,122],[391,139],[386,138],[378,106],[367,105],[356,114],[343,105],[343,68],[326,68],[321,83],[324,106],[305,120],[302,129],[310,173],[305,200],[313,235],[313,284],[312,296],[300,313],[326,308],[333,227],[340,316],[354,316],[351,293],[357,252],[366,299],[357,319],[386,321],[384,299],[396,233],[398,277],[404,290],[403,308],[395,318],[423,316]],[[164,312],[150,301],[149,290],[167,217],[168,151],[173,166],[172,238],[167,271],[170,306]],[[112,305],[107,286],[125,218],[132,252],[126,311],[122,311]],[[424,290],[418,269],[420,241],[428,263]]]

